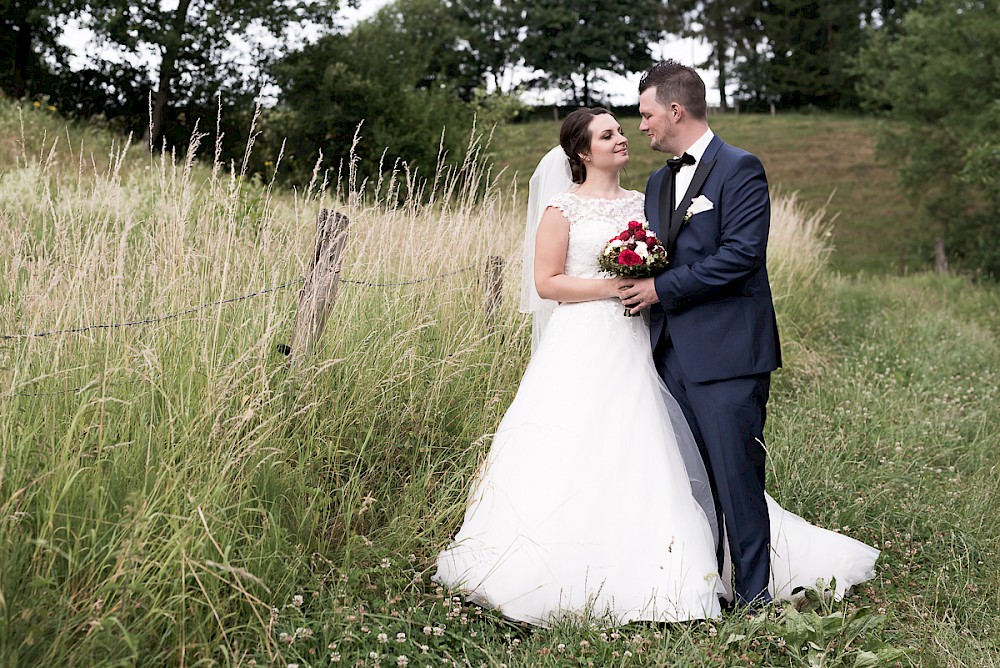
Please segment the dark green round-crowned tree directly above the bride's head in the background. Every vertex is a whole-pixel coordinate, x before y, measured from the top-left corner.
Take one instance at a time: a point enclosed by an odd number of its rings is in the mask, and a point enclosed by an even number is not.
[[[526,14],[521,54],[589,106],[602,71],[626,74],[652,63],[649,45],[664,20],[656,0],[540,0]]]

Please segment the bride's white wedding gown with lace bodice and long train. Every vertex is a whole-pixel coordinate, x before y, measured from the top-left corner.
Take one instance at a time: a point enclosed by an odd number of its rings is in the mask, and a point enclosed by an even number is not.
[[[641,193],[565,193],[551,206],[570,221],[566,273],[584,278],[606,276],[598,253],[630,220],[643,220]],[[718,616],[718,596],[731,598],[728,574],[718,573],[711,504],[695,497],[708,489],[704,468],[675,434],[679,415],[642,318],[625,317],[615,299],[560,304],[434,580],[543,626],[567,616],[605,626]],[[686,425],[676,431],[690,440]],[[768,510],[776,598],[832,577],[842,595],[874,576],[878,550],[770,497]]]

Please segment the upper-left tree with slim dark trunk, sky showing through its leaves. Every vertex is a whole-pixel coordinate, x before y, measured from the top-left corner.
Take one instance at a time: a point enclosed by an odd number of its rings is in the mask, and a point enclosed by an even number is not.
[[[97,0],[88,3],[87,25],[108,45],[136,53],[153,50],[160,55],[156,94],[146,139],[158,145],[164,129],[164,112],[179,100],[210,106],[220,93],[252,96],[261,81],[230,53],[236,39],[253,47],[257,70],[278,49],[268,40],[286,35],[293,27],[333,25],[339,0],[179,0],[176,7],[159,2],[132,3]],[[256,35],[256,37],[253,37]]]

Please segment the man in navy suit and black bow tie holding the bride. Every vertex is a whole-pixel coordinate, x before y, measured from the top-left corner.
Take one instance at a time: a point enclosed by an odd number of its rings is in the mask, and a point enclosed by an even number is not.
[[[639,130],[654,150],[679,156],[646,185],[646,218],[670,268],[620,296],[633,311],[652,307],[653,359],[725,519],[735,604],[756,609],[771,599],[764,418],[781,366],[765,267],[770,198],[760,161],[719,139],[706,112],[705,84],[690,67],[661,62],[639,82]],[[720,572],[723,549],[720,540]]]

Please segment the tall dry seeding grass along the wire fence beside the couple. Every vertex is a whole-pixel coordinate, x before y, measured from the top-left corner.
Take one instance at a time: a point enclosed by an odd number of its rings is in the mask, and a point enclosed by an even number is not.
[[[278,191],[197,162],[203,138],[90,160],[70,133],[29,141],[31,122],[0,171],[0,334],[29,335],[0,345],[0,656],[277,661],[272,608],[329,564],[348,572],[379,541],[429,562],[528,354],[525,194],[481,140],[427,182],[347,166]],[[294,289],[89,328],[293,281],[325,207],[351,221],[348,282],[303,369],[275,352]],[[779,306],[817,276],[820,231],[775,198]],[[492,327],[491,255],[508,260]]]

